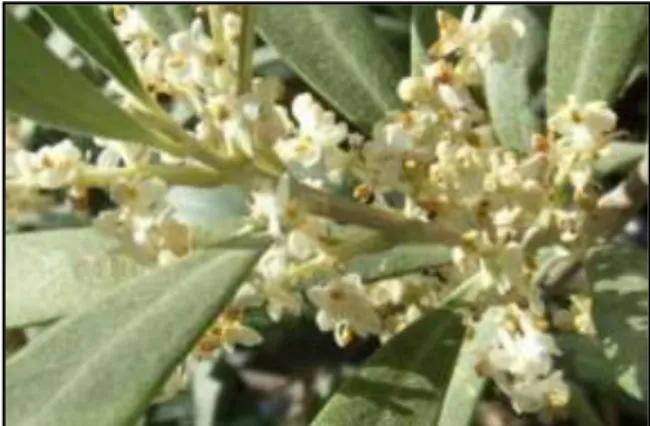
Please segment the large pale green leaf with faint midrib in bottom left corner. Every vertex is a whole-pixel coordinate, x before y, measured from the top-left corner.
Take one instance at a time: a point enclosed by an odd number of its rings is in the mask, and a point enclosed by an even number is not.
[[[7,363],[7,423],[133,424],[259,253],[196,254],[57,324]]]

